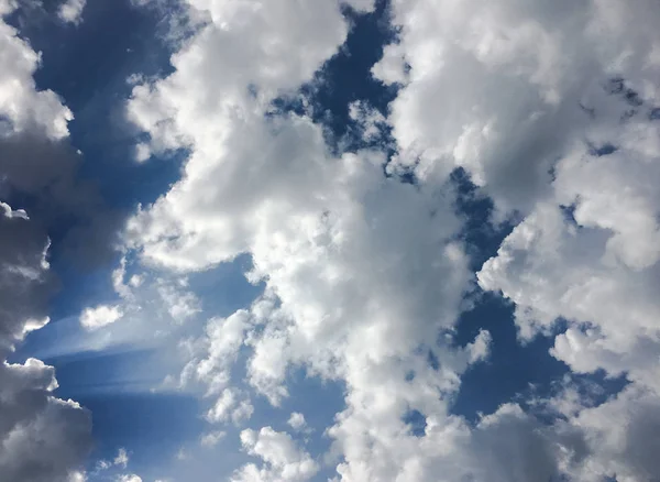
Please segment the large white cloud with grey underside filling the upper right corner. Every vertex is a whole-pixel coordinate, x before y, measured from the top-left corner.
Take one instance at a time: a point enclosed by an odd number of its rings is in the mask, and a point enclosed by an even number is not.
[[[464,167],[503,210],[528,212],[553,163],[584,140],[581,101],[614,76],[652,90],[652,2],[394,1],[400,43],[374,67],[403,88],[389,120],[393,169],[427,182]],[[628,25],[635,25],[630,32]]]

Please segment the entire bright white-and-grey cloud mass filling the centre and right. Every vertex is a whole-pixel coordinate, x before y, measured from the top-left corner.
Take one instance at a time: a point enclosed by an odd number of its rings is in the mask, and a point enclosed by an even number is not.
[[[208,320],[191,350],[182,380],[206,385],[207,418],[252,409],[232,371],[246,358],[248,385],[274,406],[293,368],[344,384],[327,428],[338,480],[657,478],[656,439],[642,450],[651,432],[637,418],[654,426],[660,406],[657,7],[393,1],[398,41],[373,73],[400,90],[387,119],[351,109],[367,139],[392,124],[398,152],[387,162],[374,150],[334,156],[308,117],[271,107],[343,42],[336,2],[188,3],[206,26],[173,56],[172,75],[135,86],[128,114],[148,134],[142,160],[189,155],[180,180],[129,221],[125,242],[144,265],[180,275],[249,253],[249,280],[265,285],[249,308]],[[517,404],[474,426],[451,415],[462,373],[492,343],[487,331],[453,340],[473,275],[457,241],[458,167],[493,199],[494,221],[521,220],[477,274],[516,304],[521,340],[563,318],[552,354],[579,373],[625,373],[631,387],[597,407],[574,399],[549,424]],[[318,471],[270,427],[241,441],[263,464],[237,481]]]

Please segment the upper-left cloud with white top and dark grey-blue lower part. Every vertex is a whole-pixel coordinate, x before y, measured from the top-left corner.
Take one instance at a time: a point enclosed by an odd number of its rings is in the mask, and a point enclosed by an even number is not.
[[[0,14],[15,7],[3,3]],[[40,54],[3,20],[0,51],[6,66],[0,73],[0,197],[28,200],[23,208],[34,223],[62,233],[57,249],[69,261],[81,266],[109,261],[121,216],[105,206],[94,182],[78,175],[82,155],[70,144],[67,127],[73,112],[54,91],[37,89],[33,75]]]

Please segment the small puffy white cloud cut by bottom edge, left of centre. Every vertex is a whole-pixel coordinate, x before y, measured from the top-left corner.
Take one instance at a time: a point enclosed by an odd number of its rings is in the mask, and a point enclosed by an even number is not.
[[[261,458],[264,463],[261,468],[253,463],[243,465],[232,476],[234,482],[304,482],[319,470],[317,462],[299,449],[288,434],[271,427],[243,430],[241,443],[249,454]]]

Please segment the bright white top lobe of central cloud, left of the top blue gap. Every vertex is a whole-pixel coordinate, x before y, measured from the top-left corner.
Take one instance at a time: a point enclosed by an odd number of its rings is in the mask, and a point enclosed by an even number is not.
[[[260,102],[295,89],[334,54],[348,32],[334,1],[314,7],[295,0],[186,3],[206,25],[173,56],[176,72],[155,85],[135,86],[129,103],[130,118],[151,134],[151,152],[191,142],[210,147],[226,138],[232,111],[249,102],[251,87]],[[139,151],[140,160],[151,154],[145,144]]]

